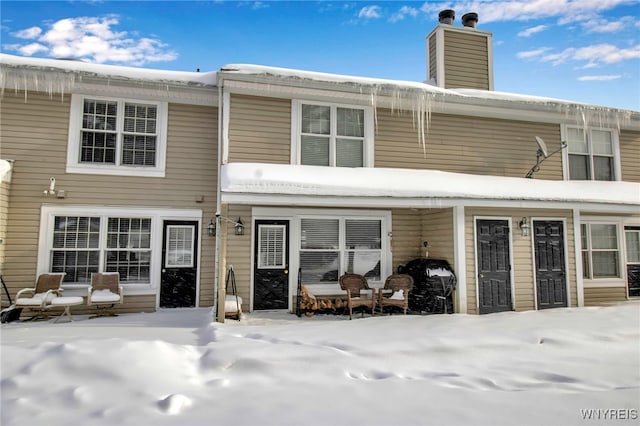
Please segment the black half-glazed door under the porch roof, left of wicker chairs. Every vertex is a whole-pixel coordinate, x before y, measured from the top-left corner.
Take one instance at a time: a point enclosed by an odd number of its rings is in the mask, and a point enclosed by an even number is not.
[[[253,309],[289,307],[289,221],[256,220]]]

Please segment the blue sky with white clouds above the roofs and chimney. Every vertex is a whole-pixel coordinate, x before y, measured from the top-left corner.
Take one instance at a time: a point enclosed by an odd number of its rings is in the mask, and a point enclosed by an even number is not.
[[[438,12],[493,33],[495,90],[640,110],[640,0],[8,1],[3,53],[180,71],[245,63],[424,81]]]

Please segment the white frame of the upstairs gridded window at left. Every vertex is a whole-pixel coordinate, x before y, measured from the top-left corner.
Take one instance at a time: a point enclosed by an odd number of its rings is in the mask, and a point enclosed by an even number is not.
[[[108,101],[118,103],[117,116],[117,152],[116,164],[82,163],[80,162],[82,116],[85,99],[98,101]],[[155,105],[157,107],[156,117],[156,165],[151,166],[130,166],[120,164],[122,155],[122,135],[123,135],[123,110],[125,103],[140,103]],[[147,176],[164,177],[166,152],[167,152],[167,115],[168,105],[166,102],[151,100],[108,98],[104,96],[91,96],[73,94],[71,96],[71,108],[69,113],[69,140],[67,147],[67,173],[84,173],[100,175],[120,175],[120,176]]]

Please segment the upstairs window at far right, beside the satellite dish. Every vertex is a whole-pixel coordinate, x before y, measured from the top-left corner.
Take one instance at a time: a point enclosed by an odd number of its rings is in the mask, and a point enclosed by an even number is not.
[[[565,139],[570,180],[616,180],[617,148],[613,131],[567,127]]]

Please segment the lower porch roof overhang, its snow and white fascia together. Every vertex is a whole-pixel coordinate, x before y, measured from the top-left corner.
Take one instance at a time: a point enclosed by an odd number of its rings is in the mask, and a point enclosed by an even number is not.
[[[222,202],[369,208],[491,206],[633,214],[640,184],[550,181],[437,170],[229,163]]]

